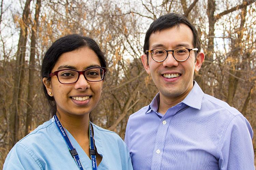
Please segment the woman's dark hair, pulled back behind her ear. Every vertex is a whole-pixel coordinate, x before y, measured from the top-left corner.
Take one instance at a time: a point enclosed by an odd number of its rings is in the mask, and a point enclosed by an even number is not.
[[[105,67],[106,69],[108,68],[104,53],[100,50],[98,44],[93,39],[78,34],[70,34],[57,39],[46,51],[42,63],[42,78],[50,79],[49,74],[58,61],[60,55],[83,47],[88,47],[93,50],[99,58],[101,67]],[[49,104],[51,115],[53,116],[57,112],[54,97],[48,95],[44,84],[43,91]]]

